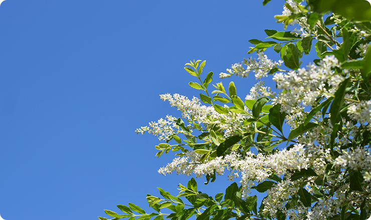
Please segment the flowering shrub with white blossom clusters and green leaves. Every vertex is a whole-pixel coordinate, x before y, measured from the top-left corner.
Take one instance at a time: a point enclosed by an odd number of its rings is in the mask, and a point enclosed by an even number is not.
[[[227,90],[216,83],[211,91],[213,72],[202,79],[206,61],[193,60],[184,68],[200,81],[189,83],[204,91],[200,98],[162,94],[181,117],[167,115],[136,130],[165,141],[155,146],[158,157],[179,151],[159,173],[196,174],[208,182],[228,173],[240,186],[233,182],[225,194],[212,197],[198,191],[192,178],[179,185],[177,196],[161,188],[163,198],[148,195],[156,212],[129,203],[117,205],[125,214],[105,210],[108,215],[129,220],[371,218],[371,1],[288,0],[275,17],[285,28],[295,28],[267,29],[272,41],[249,40],[254,44],[249,53],[256,51],[258,58],[233,64],[220,77],[246,77],[251,71],[257,79],[272,75],[278,92],[264,81],[245,100],[233,82]],[[318,59],[302,66],[300,58],[311,52],[313,40]],[[268,47],[282,60],[269,59],[263,53]],[[288,136],[284,122],[291,129]],[[251,189],[268,194],[259,209]]]

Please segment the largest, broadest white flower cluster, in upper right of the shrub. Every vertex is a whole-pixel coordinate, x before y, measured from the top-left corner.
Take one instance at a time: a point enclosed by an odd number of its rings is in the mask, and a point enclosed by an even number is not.
[[[273,104],[280,103],[281,109],[285,109],[288,114],[302,116],[303,109],[306,106],[315,103],[319,96],[329,97],[327,93],[334,94],[338,85],[343,81],[344,76],[335,74],[332,70],[339,67],[339,62],[335,56],[325,56],[318,66],[308,64],[307,68],[299,68],[284,74],[278,72],[274,75],[273,80],[277,83],[277,88],[283,92],[278,96],[263,87],[263,95],[272,97]],[[326,85],[331,88],[326,89]],[[290,91],[290,92],[287,92]]]

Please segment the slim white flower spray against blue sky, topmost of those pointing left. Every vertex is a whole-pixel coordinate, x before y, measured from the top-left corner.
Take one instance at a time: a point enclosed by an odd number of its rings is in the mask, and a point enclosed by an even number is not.
[[[255,58],[253,59],[252,57],[248,59],[244,58],[242,64],[247,65],[246,68],[244,68],[241,63],[235,63],[232,65],[231,69],[227,69],[227,72],[229,73],[221,72],[219,76],[221,78],[225,78],[236,74],[238,76],[247,77],[250,71],[253,71],[255,73],[255,77],[259,79],[261,77],[267,76],[268,72],[273,67],[278,68],[279,66],[281,66],[282,63],[282,60],[275,62],[271,59],[268,59],[267,55],[264,55],[263,52],[260,52],[258,53],[258,60],[256,60]]]

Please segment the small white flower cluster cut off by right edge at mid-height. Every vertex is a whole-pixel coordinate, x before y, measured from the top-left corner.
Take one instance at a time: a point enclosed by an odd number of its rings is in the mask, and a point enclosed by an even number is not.
[[[347,113],[350,118],[360,123],[368,123],[367,127],[371,130],[371,101],[360,101],[348,107]]]

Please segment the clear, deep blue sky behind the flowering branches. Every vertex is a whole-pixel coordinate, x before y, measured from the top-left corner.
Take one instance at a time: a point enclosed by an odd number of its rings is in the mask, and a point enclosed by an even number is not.
[[[156,187],[177,193],[190,177],[162,176],[173,156],[137,127],[180,116],[159,94],[199,91],[184,69],[206,59],[213,84],[247,54],[249,39],[282,30],[284,1],[22,1],[0,3],[0,210],[2,218],[97,219],[128,202],[147,208]],[[277,60],[278,54],[267,50]],[[205,76],[204,76],[205,77]],[[225,176],[201,186],[224,191]],[[149,209],[147,209],[149,210]]]

